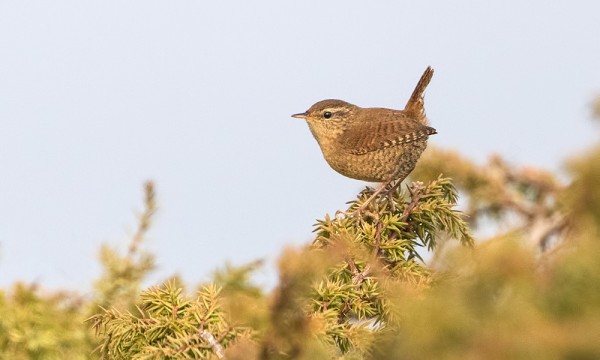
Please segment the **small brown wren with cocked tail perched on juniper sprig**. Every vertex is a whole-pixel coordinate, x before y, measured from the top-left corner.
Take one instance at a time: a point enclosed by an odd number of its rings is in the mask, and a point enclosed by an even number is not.
[[[361,108],[341,100],[323,100],[292,117],[305,119],[329,165],[359,180],[399,184],[415,168],[429,135],[423,92],[433,76],[428,67],[404,110]],[[374,194],[375,195],[375,194]]]

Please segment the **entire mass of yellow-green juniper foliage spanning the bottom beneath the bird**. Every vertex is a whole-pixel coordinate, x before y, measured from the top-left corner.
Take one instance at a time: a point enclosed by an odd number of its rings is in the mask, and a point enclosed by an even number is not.
[[[367,188],[285,249],[270,292],[251,282],[259,261],[226,264],[195,296],[180,281],[141,291],[147,183],[129,248],[101,249],[91,296],[0,291],[0,359],[598,359],[599,158],[569,161],[563,183],[429,149],[412,174],[423,183],[368,203]],[[475,243],[482,224],[495,231]]]

